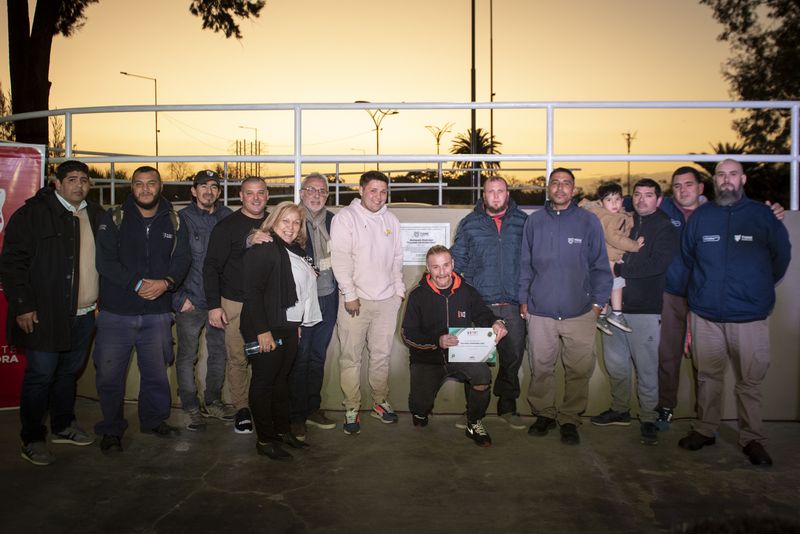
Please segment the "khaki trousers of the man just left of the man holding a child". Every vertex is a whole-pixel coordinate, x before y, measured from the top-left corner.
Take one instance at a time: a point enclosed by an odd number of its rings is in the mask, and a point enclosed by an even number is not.
[[[560,425],[581,424],[594,371],[596,317],[593,311],[561,321],[528,315],[528,403],[533,415],[556,419]],[[564,364],[564,401],[556,408],[554,376],[559,352]]]

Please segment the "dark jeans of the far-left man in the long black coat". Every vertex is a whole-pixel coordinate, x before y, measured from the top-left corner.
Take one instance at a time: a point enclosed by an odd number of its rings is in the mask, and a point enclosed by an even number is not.
[[[86,363],[93,331],[94,313],[90,312],[74,318],[69,350],[25,352],[27,365],[19,403],[23,443],[44,441],[47,436],[44,418],[48,411],[53,433],[61,432],[75,420],[76,383]]]

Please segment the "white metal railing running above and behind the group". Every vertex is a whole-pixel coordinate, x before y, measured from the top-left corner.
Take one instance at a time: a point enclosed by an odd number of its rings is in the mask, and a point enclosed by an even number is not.
[[[303,114],[310,111],[341,110],[487,110],[487,109],[542,109],[546,111],[546,149],[540,154],[475,154],[475,155],[311,155],[304,154],[302,144]],[[217,105],[160,105],[160,106],[102,106],[87,108],[68,108],[50,111],[20,113],[0,117],[0,123],[26,119],[63,116],[66,150],[64,157],[52,158],[56,163],[73,157],[72,119],[75,115],[98,113],[153,113],[153,112],[188,112],[188,111],[293,111],[294,149],[291,154],[283,155],[246,155],[207,154],[203,156],[131,156],[108,155],[82,157],[87,164],[94,163],[139,163],[139,162],[219,162],[222,164],[237,162],[256,163],[290,163],[294,166],[295,201],[299,201],[299,184],[302,165],[307,163],[414,163],[427,161],[440,166],[448,162],[544,162],[546,176],[550,175],[558,161],[569,162],[715,162],[726,154],[566,154],[556,153],[555,111],[565,109],[787,109],[791,113],[791,144],[789,154],[730,154],[742,162],[775,162],[788,163],[790,168],[790,209],[800,209],[800,102],[798,101],[665,101],[665,102],[371,102],[371,103],[304,103],[304,104],[217,104]],[[441,176],[441,174],[440,174]],[[113,177],[113,173],[112,173]],[[441,183],[439,184],[441,191]],[[113,178],[112,178],[113,191]],[[441,199],[441,194],[440,194]]]

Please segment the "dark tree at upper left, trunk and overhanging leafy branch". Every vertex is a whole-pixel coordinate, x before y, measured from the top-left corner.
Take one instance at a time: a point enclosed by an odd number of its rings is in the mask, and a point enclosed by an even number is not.
[[[8,56],[14,113],[44,111],[50,101],[50,52],[53,37],[69,37],[86,23],[85,10],[99,0],[38,0],[33,24],[28,0],[8,2]],[[192,0],[189,10],[203,28],[241,38],[238,19],[258,17],[264,0]],[[19,121],[17,141],[47,144],[47,119]]]

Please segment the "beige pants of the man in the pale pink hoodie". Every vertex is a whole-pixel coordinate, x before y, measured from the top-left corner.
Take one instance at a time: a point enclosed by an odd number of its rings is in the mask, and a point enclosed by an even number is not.
[[[344,309],[344,299],[340,299],[336,318],[342,350],[339,369],[343,404],[348,410],[361,406],[361,359],[364,347],[369,351],[368,376],[372,400],[375,404],[388,400],[389,362],[402,299],[395,295],[386,300],[360,301],[359,314],[351,317]]]

